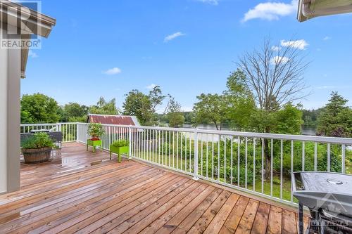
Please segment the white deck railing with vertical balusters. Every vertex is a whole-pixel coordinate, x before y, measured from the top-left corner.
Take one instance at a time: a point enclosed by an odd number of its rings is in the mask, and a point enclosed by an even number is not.
[[[63,131],[63,142],[86,143],[87,126],[23,124],[21,132],[52,128]],[[352,138],[109,124],[103,128],[104,150],[113,141],[130,140],[128,156],[135,160],[288,204],[296,204],[291,193],[292,171],[352,173]]]

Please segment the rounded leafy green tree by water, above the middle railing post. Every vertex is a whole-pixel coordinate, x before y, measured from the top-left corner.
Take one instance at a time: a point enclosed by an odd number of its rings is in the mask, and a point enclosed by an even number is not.
[[[218,94],[204,94],[197,96],[198,103],[194,103],[194,120],[200,124],[204,119],[209,119],[215,124],[217,130],[222,129],[222,124],[227,119],[228,105],[225,96]]]

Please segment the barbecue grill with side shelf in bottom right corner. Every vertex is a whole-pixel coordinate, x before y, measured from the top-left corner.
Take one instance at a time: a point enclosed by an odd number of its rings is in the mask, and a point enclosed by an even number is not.
[[[312,216],[306,233],[352,233],[352,176],[294,172],[292,190],[299,201],[300,234],[303,234],[303,206],[308,207]]]

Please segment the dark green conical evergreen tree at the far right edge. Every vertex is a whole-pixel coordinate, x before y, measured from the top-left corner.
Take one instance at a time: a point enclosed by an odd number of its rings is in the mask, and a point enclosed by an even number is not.
[[[329,103],[318,117],[318,135],[352,137],[352,108],[346,106],[348,100],[332,92]]]

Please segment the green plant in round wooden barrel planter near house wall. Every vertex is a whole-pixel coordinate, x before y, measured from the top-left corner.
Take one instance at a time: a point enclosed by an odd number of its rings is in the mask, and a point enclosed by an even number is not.
[[[28,138],[22,145],[25,163],[46,162],[50,159],[54,143],[48,134],[41,132]]]

